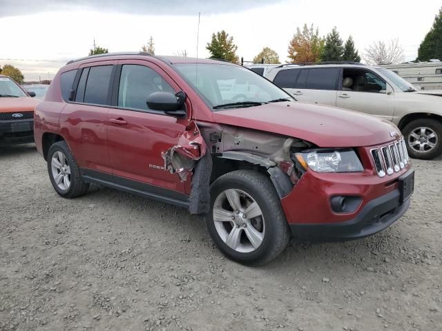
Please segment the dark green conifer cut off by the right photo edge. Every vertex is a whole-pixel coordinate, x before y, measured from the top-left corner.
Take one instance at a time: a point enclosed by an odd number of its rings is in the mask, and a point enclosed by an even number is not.
[[[425,35],[417,54],[419,61],[442,60],[442,8],[434,18],[433,26]]]

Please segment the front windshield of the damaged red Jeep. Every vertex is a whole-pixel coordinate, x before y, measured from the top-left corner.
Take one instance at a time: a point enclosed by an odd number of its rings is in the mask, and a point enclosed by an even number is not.
[[[189,63],[176,64],[175,68],[214,111],[294,100],[267,79],[240,66]]]

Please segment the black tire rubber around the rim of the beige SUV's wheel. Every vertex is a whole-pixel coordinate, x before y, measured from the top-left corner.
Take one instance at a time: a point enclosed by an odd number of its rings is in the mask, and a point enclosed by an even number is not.
[[[408,145],[408,136],[412,131],[419,127],[427,127],[432,129],[437,135],[437,145],[431,152],[419,153],[414,151]],[[407,146],[407,152],[413,159],[434,159],[442,154],[442,123],[434,119],[416,119],[408,123],[405,128],[403,128],[403,136]]]

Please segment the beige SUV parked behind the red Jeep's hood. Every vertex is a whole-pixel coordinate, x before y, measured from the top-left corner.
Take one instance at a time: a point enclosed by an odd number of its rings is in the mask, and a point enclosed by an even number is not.
[[[392,121],[410,156],[442,154],[442,91],[418,91],[394,72],[361,63],[282,65],[267,79],[298,101],[365,112]]]

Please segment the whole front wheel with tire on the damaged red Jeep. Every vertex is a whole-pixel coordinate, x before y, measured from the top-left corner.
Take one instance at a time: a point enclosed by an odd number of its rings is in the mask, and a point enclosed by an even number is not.
[[[241,208],[233,208],[230,202],[235,200],[236,194],[239,196],[236,204],[240,203]],[[253,209],[249,208],[253,203],[258,205],[258,209],[256,205]],[[240,212],[236,213],[234,209]],[[249,215],[260,216],[249,218],[247,210]],[[229,220],[232,217],[234,221]],[[244,265],[268,263],[285,250],[291,237],[273,183],[269,177],[252,170],[229,172],[213,182],[210,212],[206,214],[205,221],[218,249],[229,259]],[[238,237],[239,241],[231,239]],[[254,245],[249,238],[253,239]]]

